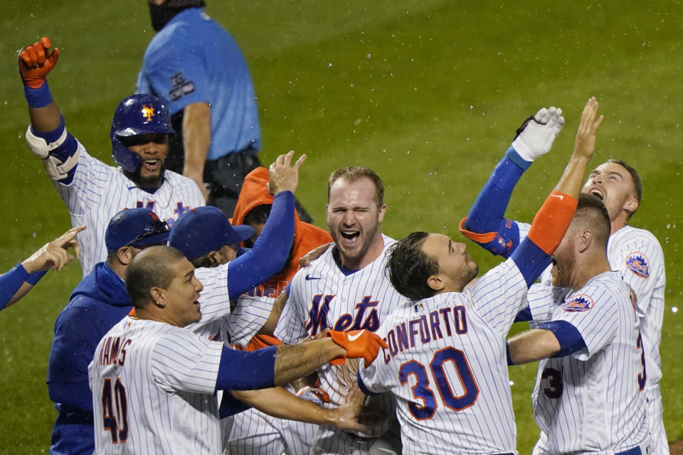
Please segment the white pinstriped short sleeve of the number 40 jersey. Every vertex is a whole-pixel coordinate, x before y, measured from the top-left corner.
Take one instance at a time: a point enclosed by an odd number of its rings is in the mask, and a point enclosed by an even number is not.
[[[152,353],[154,380],[167,392],[211,394],[216,389],[223,344],[185,328],[159,338]]]

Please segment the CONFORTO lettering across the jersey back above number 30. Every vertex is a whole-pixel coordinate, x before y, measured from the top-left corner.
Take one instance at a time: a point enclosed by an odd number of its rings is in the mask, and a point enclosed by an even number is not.
[[[415,311],[419,311],[423,304],[415,304]],[[447,306],[435,309],[428,314],[401,322],[386,334],[384,341],[389,346],[384,350],[384,362],[389,363],[392,357],[403,350],[414,348],[415,341],[426,344],[430,341],[440,340],[445,336],[452,336],[455,331],[457,335],[467,333],[467,313],[465,306]]]

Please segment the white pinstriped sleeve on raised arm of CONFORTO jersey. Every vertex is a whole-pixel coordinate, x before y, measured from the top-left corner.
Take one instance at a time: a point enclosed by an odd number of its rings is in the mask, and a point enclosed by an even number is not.
[[[497,265],[471,285],[471,304],[494,331],[506,335],[526,306],[526,282],[512,259]]]

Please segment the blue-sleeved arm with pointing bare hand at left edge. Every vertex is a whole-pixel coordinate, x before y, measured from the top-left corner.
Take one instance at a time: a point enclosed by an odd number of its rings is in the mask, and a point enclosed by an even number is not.
[[[61,270],[74,255],[68,253],[70,247],[76,247],[76,235],[85,226],[70,229],[48,242],[40,250],[27,257],[0,276],[0,310],[15,304],[28,291],[38,284],[49,269]]]

